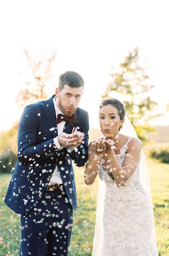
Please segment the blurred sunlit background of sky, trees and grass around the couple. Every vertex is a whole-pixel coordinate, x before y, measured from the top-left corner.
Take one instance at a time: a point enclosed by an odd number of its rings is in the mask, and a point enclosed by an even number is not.
[[[80,73],[79,107],[99,138],[101,98],[122,101],[147,157],[159,255],[169,255],[169,39],[167,1],[5,1],[0,4],[0,237],[2,255],[18,255],[19,216],[4,204],[17,160],[23,108],[55,94],[58,77]],[[122,132],[122,131],[121,131]],[[70,255],[92,255],[97,180],[76,168],[78,209]]]

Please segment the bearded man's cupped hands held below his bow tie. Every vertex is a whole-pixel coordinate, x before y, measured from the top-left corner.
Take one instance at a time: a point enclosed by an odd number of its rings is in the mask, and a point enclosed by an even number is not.
[[[61,146],[77,147],[84,139],[84,134],[82,132],[74,132],[71,134],[62,132],[57,139]]]

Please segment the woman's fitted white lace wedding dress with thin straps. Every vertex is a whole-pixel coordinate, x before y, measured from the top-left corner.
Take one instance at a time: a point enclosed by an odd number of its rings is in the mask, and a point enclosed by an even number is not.
[[[123,164],[130,138],[116,155]],[[99,166],[99,178],[106,183],[103,212],[102,256],[155,256],[151,240],[151,211],[148,196],[139,177],[140,161],[127,185],[117,187],[104,171],[104,160]]]

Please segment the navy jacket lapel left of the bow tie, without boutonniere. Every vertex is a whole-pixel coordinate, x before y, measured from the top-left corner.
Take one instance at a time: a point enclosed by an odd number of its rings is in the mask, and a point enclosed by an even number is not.
[[[56,112],[53,104],[54,97],[55,95],[53,95],[52,98],[50,98],[45,102],[45,108],[44,108],[44,112],[49,124],[49,131],[52,133],[53,138],[57,136]]]

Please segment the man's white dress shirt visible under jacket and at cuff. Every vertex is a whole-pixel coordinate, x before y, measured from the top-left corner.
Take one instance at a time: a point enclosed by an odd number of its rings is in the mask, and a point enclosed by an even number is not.
[[[54,107],[55,107],[55,112],[56,112],[56,118],[57,118],[57,114],[62,114],[64,115],[61,110],[57,107],[56,105],[56,96],[53,98],[53,103],[54,103]],[[65,125],[66,121],[62,121],[60,122],[59,124],[57,124],[57,134],[58,136],[63,132],[63,128],[64,128],[64,125]],[[54,143],[55,143],[55,146],[57,149],[61,150],[64,146],[61,146],[58,142],[58,139],[57,137],[55,137],[54,139]],[[74,149],[69,147],[69,152],[73,151]],[[51,179],[49,180],[49,185],[52,185],[52,184],[63,184],[63,181],[62,181],[62,178],[61,178],[61,175],[60,175],[60,172],[57,168],[57,163],[56,163],[56,167],[55,167],[55,170],[54,172],[52,173],[52,177]]]

